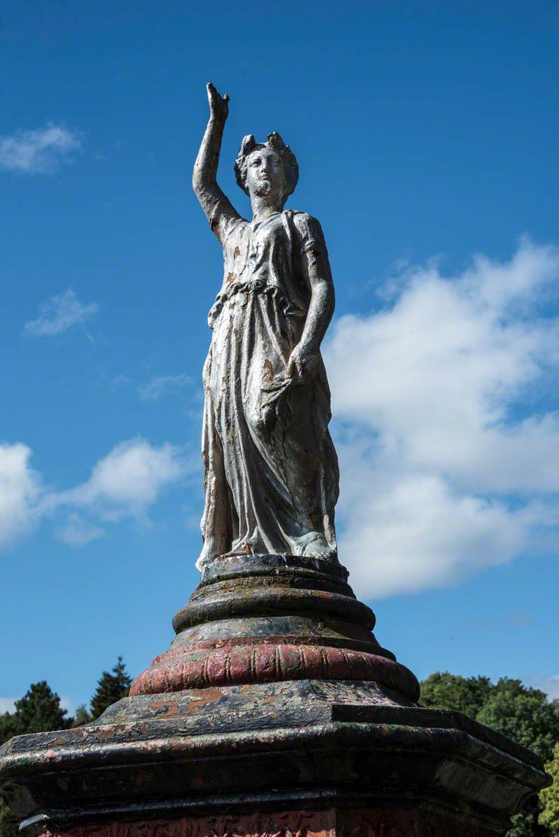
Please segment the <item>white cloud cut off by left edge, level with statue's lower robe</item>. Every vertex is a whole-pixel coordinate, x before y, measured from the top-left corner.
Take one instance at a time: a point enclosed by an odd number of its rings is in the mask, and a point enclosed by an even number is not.
[[[0,546],[28,533],[38,522],[38,474],[29,467],[25,444],[0,444]]]

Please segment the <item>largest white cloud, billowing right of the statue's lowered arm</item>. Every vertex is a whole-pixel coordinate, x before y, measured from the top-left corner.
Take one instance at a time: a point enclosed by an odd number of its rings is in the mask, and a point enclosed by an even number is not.
[[[536,408],[556,396],[558,279],[559,251],[523,240],[453,277],[408,268],[380,311],[337,321],[340,554],[360,593],[445,586],[559,542],[559,413]]]

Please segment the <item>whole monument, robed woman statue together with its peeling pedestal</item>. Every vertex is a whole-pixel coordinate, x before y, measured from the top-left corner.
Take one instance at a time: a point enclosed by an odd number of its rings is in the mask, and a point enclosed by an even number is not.
[[[208,96],[194,188],[225,280],[204,367],[202,578],[129,696],[0,747],[0,797],[29,837],[505,837],[551,777],[499,732],[418,706],[417,678],[372,634],[336,557],[321,228],[284,210],[297,163],[277,134],[245,137],[254,218],[235,212],[216,183],[228,100]]]

